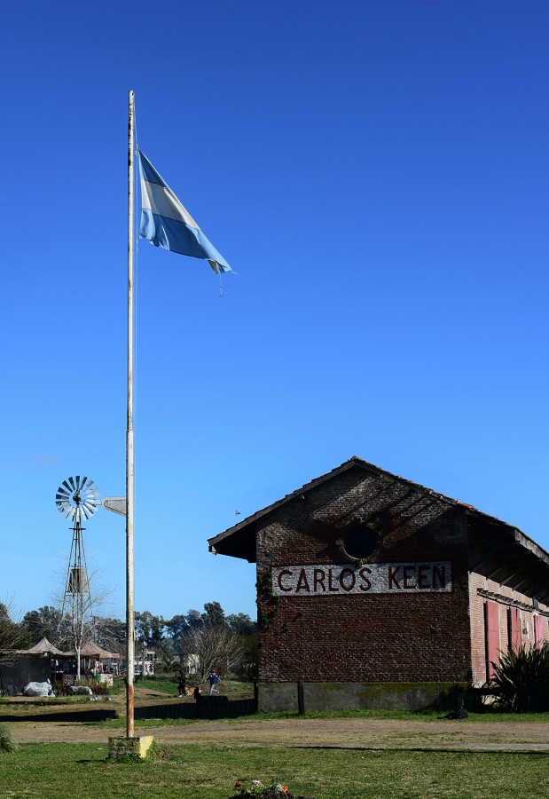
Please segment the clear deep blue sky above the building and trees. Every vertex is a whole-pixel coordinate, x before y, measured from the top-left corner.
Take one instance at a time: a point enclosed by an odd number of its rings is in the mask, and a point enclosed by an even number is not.
[[[207,538],[351,455],[549,549],[545,0],[9,4],[0,59],[0,600],[50,601],[61,480],[125,490],[129,89],[239,273],[140,245],[137,609],[255,615]]]

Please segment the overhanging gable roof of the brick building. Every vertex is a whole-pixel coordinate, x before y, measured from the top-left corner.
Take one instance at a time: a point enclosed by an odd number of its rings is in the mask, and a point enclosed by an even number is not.
[[[400,477],[400,475],[392,474],[390,471],[381,469],[380,466],[374,466],[373,463],[368,463],[362,458],[357,457],[357,455],[353,455],[348,461],[341,463],[341,466],[337,466],[332,471],[328,471],[320,477],[310,480],[309,483],[305,483],[304,486],[297,488],[291,494],[286,494],[286,496],[282,497],[282,499],[279,499],[278,502],[272,502],[271,505],[267,505],[267,507],[263,508],[263,510],[257,510],[251,516],[243,519],[238,524],[229,527],[224,531],[224,533],[220,533],[215,535],[213,538],[209,538],[209,551],[213,552],[214,554],[219,553],[220,555],[230,555],[233,558],[244,558],[250,563],[255,563],[256,522],[265,518],[273,511],[278,510],[285,505],[286,502],[291,502],[296,497],[306,494],[311,489],[321,486],[328,480],[338,477],[343,472],[352,469],[361,469],[364,471],[369,471],[372,474],[382,475],[389,479],[396,480],[402,485],[410,487],[414,491],[434,497],[440,502],[447,502],[451,507],[459,507],[463,509],[469,517],[476,518],[482,523],[497,526],[500,532],[506,532],[506,537],[509,539],[510,544],[514,546],[519,545],[521,547],[522,554],[528,554],[530,557],[533,556],[536,558],[537,562],[541,561],[545,568],[549,570],[549,554],[547,554],[545,550],[542,550],[542,548],[538,546],[536,542],[532,541],[528,535],[522,533],[517,527],[509,525],[506,522],[501,521],[494,516],[490,516],[487,513],[483,513],[482,510],[477,510],[473,507],[473,505],[468,505],[466,502],[460,502],[459,500],[452,499],[451,497],[446,496],[445,494],[440,494],[431,488],[421,486],[420,483],[414,483],[412,480],[405,479]]]

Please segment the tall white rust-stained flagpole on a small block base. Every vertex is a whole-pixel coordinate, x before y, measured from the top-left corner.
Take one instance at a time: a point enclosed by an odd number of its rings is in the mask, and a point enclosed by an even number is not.
[[[133,609],[133,182],[134,92],[129,91],[128,114],[128,425],[126,428],[126,737],[134,734],[134,609]]]

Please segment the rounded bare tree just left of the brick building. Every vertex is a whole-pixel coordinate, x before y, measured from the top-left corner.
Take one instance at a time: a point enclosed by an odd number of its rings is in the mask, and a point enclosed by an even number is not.
[[[212,668],[226,671],[239,663],[246,652],[242,637],[222,624],[207,624],[190,629],[181,642],[182,652],[194,655],[200,682]]]

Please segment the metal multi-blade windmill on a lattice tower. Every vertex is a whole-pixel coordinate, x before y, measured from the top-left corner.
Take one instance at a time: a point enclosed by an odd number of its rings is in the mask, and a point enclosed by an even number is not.
[[[80,650],[86,629],[91,622],[91,592],[86,550],[84,548],[82,520],[87,521],[99,507],[98,488],[93,480],[76,475],[63,480],[55,494],[59,513],[73,522],[67,579],[63,593],[62,618],[70,620],[72,640],[75,645],[76,678],[80,679]]]

